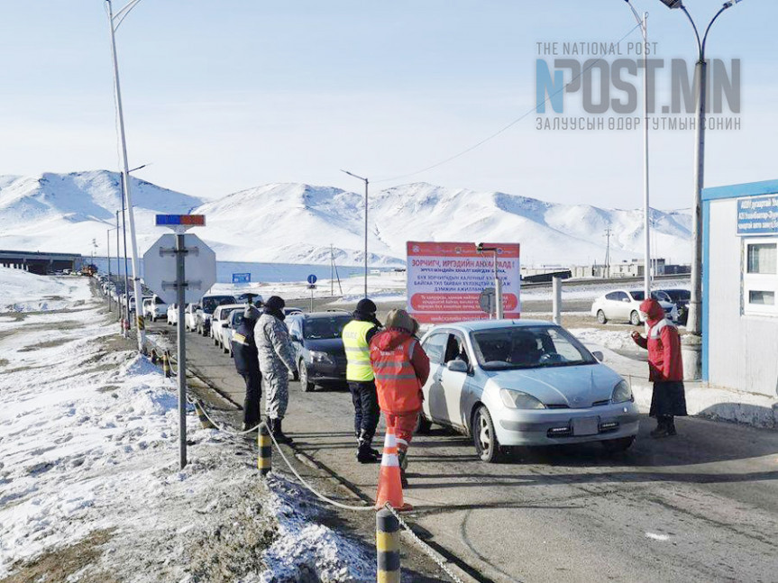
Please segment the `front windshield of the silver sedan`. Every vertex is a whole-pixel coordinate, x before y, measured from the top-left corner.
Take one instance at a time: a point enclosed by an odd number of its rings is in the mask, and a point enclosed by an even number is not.
[[[570,332],[557,326],[517,326],[472,332],[482,369],[539,369],[595,364]]]

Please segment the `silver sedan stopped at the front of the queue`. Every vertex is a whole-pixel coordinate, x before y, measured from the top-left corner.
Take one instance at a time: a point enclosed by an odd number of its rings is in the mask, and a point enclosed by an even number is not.
[[[419,433],[432,423],[472,437],[481,460],[501,446],[635,441],[638,412],[627,382],[570,332],[539,321],[478,321],[436,327]]]

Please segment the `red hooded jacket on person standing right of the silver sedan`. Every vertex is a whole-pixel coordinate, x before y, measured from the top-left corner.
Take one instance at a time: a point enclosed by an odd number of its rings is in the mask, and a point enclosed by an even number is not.
[[[648,314],[648,338],[636,337],[635,343],[648,349],[648,378],[652,382],[683,380],[681,337],[654,299],[645,300],[640,311]]]

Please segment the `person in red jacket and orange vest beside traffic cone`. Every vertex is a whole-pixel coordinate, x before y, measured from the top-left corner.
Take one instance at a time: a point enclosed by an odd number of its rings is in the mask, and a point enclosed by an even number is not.
[[[429,359],[414,334],[418,323],[405,310],[387,315],[386,329],[371,339],[371,365],[379,406],[387,427],[397,435],[400,479],[407,487],[407,448],[421,412],[421,387],[429,377]]]

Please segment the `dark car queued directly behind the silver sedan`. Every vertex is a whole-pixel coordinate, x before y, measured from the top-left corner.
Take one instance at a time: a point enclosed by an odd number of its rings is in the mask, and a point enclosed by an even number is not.
[[[346,352],[341,334],[351,321],[348,312],[313,312],[287,317],[304,391],[312,391],[316,385],[345,384]]]

